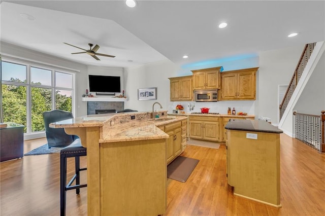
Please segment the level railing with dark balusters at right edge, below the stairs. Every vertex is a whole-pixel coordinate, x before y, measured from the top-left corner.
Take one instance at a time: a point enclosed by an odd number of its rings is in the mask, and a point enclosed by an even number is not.
[[[294,112],[294,116],[296,118],[296,139],[316,149],[319,153],[325,153],[325,111],[321,111],[320,116],[297,112]]]

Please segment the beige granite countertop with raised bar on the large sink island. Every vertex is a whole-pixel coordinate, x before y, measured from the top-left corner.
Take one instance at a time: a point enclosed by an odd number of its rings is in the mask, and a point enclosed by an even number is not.
[[[68,119],[50,124],[52,128],[103,127],[100,142],[148,140],[168,138],[157,126],[187,119],[185,116],[164,116],[152,119],[151,112],[98,114]],[[131,120],[131,117],[134,119]]]

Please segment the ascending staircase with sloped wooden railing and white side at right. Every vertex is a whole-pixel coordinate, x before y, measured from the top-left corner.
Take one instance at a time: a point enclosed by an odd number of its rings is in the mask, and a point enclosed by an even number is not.
[[[278,126],[285,133],[287,128],[293,128],[293,109],[324,50],[325,43],[317,42],[307,44],[302,52],[294,75],[279,106],[280,121]],[[292,132],[287,134],[293,136]]]

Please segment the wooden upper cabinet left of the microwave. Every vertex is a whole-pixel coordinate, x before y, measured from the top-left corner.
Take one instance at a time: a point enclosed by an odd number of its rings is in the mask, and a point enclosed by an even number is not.
[[[169,80],[171,101],[192,100],[192,76],[173,77],[169,78]]]

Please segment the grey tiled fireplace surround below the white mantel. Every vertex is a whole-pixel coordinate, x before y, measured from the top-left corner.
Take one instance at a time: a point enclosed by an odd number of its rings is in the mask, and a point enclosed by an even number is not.
[[[95,114],[96,110],[115,110],[124,109],[124,102],[121,101],[88,101],[87,115]]]

